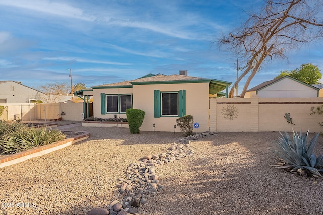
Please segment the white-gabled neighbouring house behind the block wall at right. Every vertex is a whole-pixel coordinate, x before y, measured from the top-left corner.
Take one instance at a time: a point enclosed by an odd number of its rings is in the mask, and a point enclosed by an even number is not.
[[[284,76],[278,79],[263,82],[248,90],[244,98],[251,98],[257,94],[259,98],[313,98],[318,97],[319,89]]]

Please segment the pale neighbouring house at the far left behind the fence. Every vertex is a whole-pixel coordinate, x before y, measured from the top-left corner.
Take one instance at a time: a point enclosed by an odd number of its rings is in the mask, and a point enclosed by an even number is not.
[[[46,94],[27,87],[21,82],[0,81],[0,103],[30,103]]]

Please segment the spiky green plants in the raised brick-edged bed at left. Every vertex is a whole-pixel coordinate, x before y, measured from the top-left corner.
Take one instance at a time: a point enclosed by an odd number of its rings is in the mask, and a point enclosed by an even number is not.
[[[4,128],[0,139],[1,154],[14,154],[65,139],[65,135],[59,130],[28,128],[17,122],[7,125],[9,126],[1,126]]]

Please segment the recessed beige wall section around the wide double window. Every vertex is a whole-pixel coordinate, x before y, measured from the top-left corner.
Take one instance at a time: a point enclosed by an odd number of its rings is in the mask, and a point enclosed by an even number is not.
[[[108,88],[108,89],[93,89],[93,115],[98,118],[114,118],[117,114],[117,118],[127,118],[125,113],[110,113],[101,114],[101,93],[105,94],[132,94],[132,88]],[[134,100],[134,99],[132,99]]]

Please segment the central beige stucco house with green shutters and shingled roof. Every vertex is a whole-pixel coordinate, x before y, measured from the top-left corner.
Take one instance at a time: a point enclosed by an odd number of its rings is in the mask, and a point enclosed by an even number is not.
[[[93,91],[85,89],[75,94],[93,95],[94,117],[98,118],[126,118],[128,108],[145,111],[143,131],[153,130],[153,124],[156,131],[174,131],[175,120],[184,115],[192,115],[194,122],[199,123],[196,131],[206,131],[209,98],[225,89],[228,92],[230,84],[187,75],[148,74],[132,81],[93,86]]]

